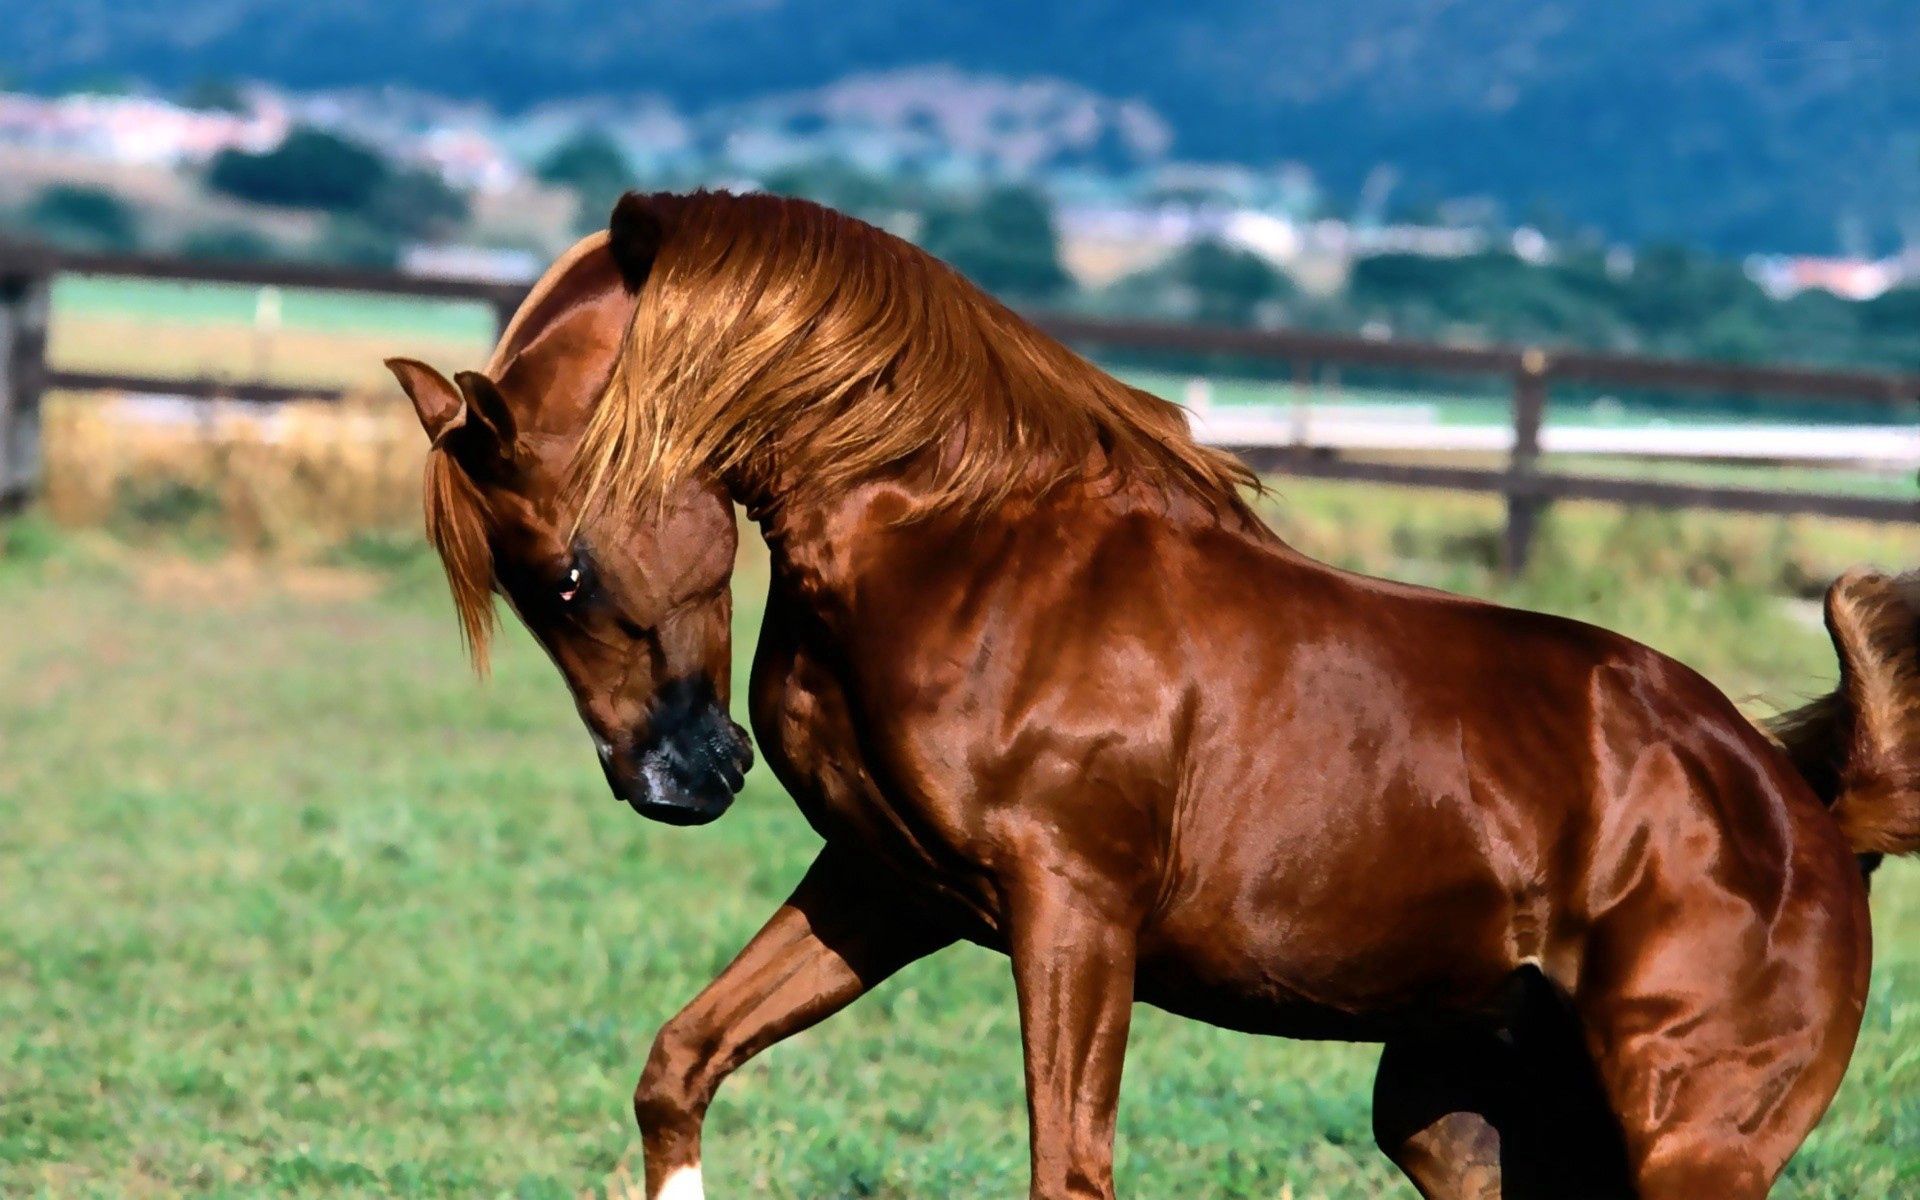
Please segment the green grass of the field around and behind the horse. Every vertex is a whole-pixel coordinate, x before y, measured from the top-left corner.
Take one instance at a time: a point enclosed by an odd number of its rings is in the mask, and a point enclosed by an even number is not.
[[[1501,586],[1488,513],[1288,486],[1283,518],[1784,699],[1832,659],[1772,588],[1910,549],[1569,507]],[[524,636],[470,680],[417,549],[223,570],[36,522],[0,547],[0,1194],[624,1194],[655,1027],[814,851],[778,785],[707,829],[634,818]],[[1920,870],[1874,908],[1860,1048],[1780,1194],[1920,1188]],[[1367,1135],[1375,1056],[1142,1008],[1123,1194],[1411,1196]],[[728,1083],[710,1190],[1020,1194],[1020,1077],[1004,960],[948,950]]]

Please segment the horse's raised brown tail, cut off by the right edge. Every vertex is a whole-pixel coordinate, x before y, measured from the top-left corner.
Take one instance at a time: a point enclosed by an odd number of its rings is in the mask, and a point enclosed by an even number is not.
[[[1920,572],[1826,591],[1839,687],[1764,722],[1857,854],[1920,852]]]

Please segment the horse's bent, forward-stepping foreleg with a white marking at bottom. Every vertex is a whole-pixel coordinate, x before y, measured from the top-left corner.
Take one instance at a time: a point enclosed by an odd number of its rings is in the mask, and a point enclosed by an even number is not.
[[[647,1196],[701,1198],[701,1121],[722,1079],[950,941],[870,866],[822,851],[747,948],[655,1039],[634,1091]]]

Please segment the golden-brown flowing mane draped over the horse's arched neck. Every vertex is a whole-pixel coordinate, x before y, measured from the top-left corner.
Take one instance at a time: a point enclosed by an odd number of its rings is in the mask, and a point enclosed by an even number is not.
[[[922,465],[922,513],[985,513],[1089,476],[1244,513],[1240,488],[1258,486],[1194,442],[1179,407],[910,242],[766,194],[649,204],[664,236],[576,459],[582,511],[756,468],[831,497]]]

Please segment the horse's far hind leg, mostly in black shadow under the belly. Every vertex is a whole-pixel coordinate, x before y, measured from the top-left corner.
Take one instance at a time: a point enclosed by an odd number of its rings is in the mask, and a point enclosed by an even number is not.
[[[1538,977],[1513,1021],[1386,1044],[1375,1140],[1428,1200],[1620,1200],[1626,1154],[1584,1039]]]

